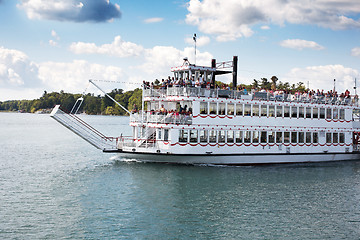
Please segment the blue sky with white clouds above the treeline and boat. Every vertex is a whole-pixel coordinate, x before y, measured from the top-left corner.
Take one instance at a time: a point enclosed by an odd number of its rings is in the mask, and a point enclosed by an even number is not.
[[[194,63],[194,33],[196,64],[236,55],[238,83],[360,84],[359,0],[0,0],[0,101],[138,88]]]

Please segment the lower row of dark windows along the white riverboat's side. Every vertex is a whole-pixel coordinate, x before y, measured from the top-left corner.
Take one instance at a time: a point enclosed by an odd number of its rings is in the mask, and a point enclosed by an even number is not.
[[[180,130],[180,143],[319,143],[318,132]],[[345,143],[344,133],[326,133],[326,143]]]

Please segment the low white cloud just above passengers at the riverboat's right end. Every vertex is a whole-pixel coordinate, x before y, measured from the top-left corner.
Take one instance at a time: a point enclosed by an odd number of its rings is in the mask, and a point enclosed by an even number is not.
[[[353,89],[354,78],[359,76],[359,71],[347,68],[343,65],[311,66],[306,68],[292,69],[284,82],[290,83],[303,82],[310,83],[311,89],[333,89],[334,79],[336,79],[336,91],[344,92],[346,89]]]

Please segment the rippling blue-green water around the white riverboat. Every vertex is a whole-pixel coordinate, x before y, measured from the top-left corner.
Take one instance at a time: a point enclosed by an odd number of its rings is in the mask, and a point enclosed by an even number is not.
[[[85,119],[130,131],[127,117]],[[0,239],[360,239],[360,161],[122,162],[18,113],[0,113],[0,146]]]

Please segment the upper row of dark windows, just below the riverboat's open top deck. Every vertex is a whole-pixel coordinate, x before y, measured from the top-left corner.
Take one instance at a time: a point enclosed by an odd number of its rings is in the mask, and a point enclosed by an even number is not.
[[[345,119],[345,109],[215,102],[200,102],[200,114]]]

